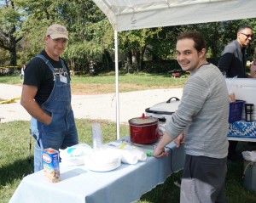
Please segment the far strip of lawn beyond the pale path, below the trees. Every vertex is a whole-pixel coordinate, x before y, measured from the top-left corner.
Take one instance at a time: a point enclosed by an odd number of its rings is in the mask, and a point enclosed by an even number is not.
[[[72,93],[77,95],[115,93],[115,79],[114,73],[99,76],[72,76]],[[125,74],[119,76],[119,93],[156,88],[178,88],[183,87],[186,81],[187,77],[173,78],[169,74]],[[0,83],[21,86],[19,76],[0,76]]]

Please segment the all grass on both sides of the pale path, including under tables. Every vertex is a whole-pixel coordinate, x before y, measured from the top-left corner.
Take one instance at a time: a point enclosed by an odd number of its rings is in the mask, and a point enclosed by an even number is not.
[[[119,76],[119,91],[129,92],[152,88],[183,87],[187,78],[171,78],[168,75],[127,74]],[[21,85],[19,76],[0,76],[0,82]],[[72,91],[75,94],[113,93],[115,78],[113,74],[102,76],[73,76]],[[1,95],[0,95],[1,99]],[[115,123],[109,121],[76,120],[80,143],[91,145],[91,124],[100,122],[104,143],[116,138]],[[0,122],[0,203],[9,202],[20,181],[32,173],[33,151],[29,150],[30,135],[28,121]],[[128,135],[128,126],[120,125],[120,137]],[[230,203],[256,203],[256,192],[243,188],[243,161],[241,151],[256,150],[247,143],[238,144],[236,161],[228,165],[226,178],[226,197]],[[174,182],[182,172],[172,174],[166,182],[144,194],[140,203],[178,203],[179,188]]]

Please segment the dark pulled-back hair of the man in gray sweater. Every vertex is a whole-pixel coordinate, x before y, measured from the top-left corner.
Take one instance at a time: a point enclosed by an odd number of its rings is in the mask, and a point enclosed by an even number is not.
[[[195,42],[194,47],[198,52],[201,52],[203,48],[207,50],[206,42],[199,31],[186,31],[177,37],[177,41],[182,39],[192,39]]]

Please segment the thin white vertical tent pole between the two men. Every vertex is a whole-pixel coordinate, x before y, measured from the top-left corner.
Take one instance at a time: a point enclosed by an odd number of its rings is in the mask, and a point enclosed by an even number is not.
[[[120,138],[119,130],[119,45],[118,31],[114,30],[114,61],[115,61],[115,94],[116,94],[116,138]]]

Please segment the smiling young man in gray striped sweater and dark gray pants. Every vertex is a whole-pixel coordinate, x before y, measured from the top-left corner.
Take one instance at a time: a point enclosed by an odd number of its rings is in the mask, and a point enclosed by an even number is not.
[[[180,202],[225,202],[229,94],[224,76],[207,62],[206,44],[199,32],[189,31],[177,37],[176,49],[178,64],[191,76],[154,156],[168,155],[165,146],[175,138],[177,146],[184,140]]]

